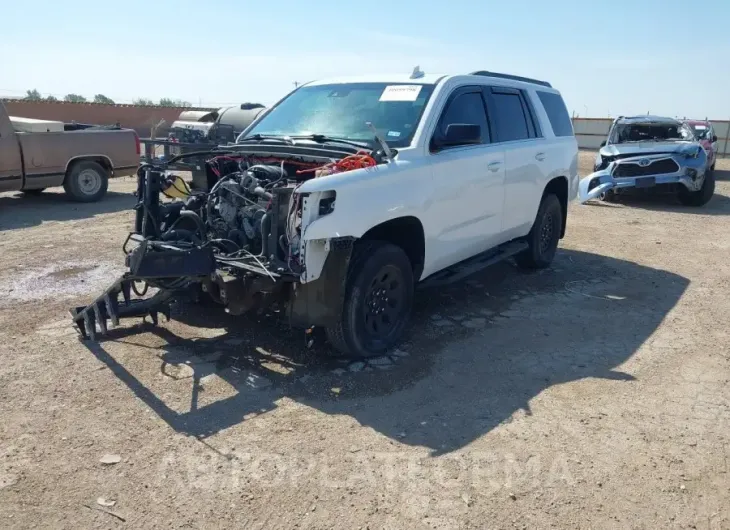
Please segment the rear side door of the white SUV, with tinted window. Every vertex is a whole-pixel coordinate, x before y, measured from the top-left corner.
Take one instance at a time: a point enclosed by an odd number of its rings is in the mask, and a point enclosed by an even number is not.
[[[548,153],[532,103],[524,90],[485,89],[494,142],[505,156],[504,240],[529,232],[545,185]]]

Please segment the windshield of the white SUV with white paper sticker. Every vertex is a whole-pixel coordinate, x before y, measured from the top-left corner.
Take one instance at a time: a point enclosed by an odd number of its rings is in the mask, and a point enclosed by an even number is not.
[[[272,108],[246,136],[306,136],[366,142],[371,122],[392,147],[405,147],[421,119],[433,85],[347,83],[302,87]]]

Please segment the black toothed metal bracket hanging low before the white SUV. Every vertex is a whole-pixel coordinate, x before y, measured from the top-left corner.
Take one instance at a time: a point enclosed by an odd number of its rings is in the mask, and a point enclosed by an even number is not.
[[[130,317],[146,317],[152,319],[153,324],[157,324],[159,313],[165,315],[170,320],[169,299],[173,292],[160,290],[150,298],[132,298],[132,284],[140,280],[130,273],[125,273],[106,290],[96,300],[87,306],[80,306],[70,310],[71,318],[78,327],[81,336],[84,339],[96,340],[97,325],[101,335],[107,332],[107,320],[113,326],[119,325],[119,320]],[[122,299],[119,299],[119,295]]]

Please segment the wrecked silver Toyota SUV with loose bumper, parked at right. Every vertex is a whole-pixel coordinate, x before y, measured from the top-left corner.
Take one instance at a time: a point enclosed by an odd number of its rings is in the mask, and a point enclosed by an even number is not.
[[[612,201],[649,189],[675,191],[686,206],[704,206],[715,192],[710,158],[686,123],[659,116],[619,117],[580,182],[580,201]]]

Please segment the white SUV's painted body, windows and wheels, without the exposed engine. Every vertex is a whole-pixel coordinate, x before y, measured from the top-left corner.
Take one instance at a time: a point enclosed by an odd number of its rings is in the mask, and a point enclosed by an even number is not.
[[[380,97],[368,98],[370,92]],[[333,97],[350,100],[350,116],[328,113]],[[328,120],[351,119],[349,139],[358,139],[357,131],[372,138],[367,119],[397,150],[386,163],[297,189],[306,197],[298,289],[317,291],[321,296],[307,299],[323,303],[296,311],[295,299],[294,314],[324,325],[339,350],[367,356],[394,347],[418,281],[454,280],[510,255],[525,267],[552,261],[577,195],[578,146],[550,84],[491,72],[317,81],[241,137],[299,133],[298,124],[282,125],[297,123],[297,113],[318,130],[333,128]],[[335,196],[336,206],[322,215],[321,201]],[[332,243],[347,240],[354,241],[351,254],[335,257]]]

